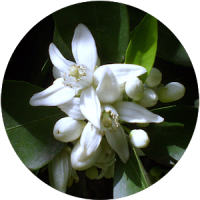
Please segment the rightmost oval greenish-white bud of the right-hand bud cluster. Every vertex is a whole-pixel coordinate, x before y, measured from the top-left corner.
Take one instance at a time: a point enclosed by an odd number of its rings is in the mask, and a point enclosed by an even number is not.
[[[169,103],[181,99],[185,94],[185,87],[178,82],[168,83],[158,92],[158,98],[163,103]]]

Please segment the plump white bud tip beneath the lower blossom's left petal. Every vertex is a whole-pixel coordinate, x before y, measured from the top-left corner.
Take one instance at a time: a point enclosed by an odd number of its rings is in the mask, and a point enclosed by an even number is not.
[[[83,148],[80,145],[80,141],[78,141],[76,145],[74,146],[74,148],[72,149],[72,153],[71,153],[72,167],[75,170],[86,170],[92,167],[96,163],[96,161],[99,159],[101,151],[102,151],[102,147],[101,145],[99,145],[96,151],[93,151],[92,153],[87,154],[87,150]]]

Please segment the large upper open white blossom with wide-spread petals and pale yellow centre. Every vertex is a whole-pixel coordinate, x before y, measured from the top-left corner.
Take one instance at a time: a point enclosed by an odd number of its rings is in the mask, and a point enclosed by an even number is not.
[[[109,64],[96,69],[96,44],[91,32],[83,24],[79,24],[75,29],[72,53],[76,62],[65,59],[57,47],[53,43],[50,44],[49,55],[54,65],[53,74],[56,80],[47,89],[34,94],[30,104],[58,106],[70,117],[80,120],[86,118],[100,128],[100,101],[115,102],[120,96],[120,84],[131,80],[133,76],[146,73],[146,69],[132,64]],[[108,74],[112,74],[109,77],[114,78],[109,80]],[[105,96],[105,91],[109,91],[109,95]],[[79,100],[74,98],[78,93],[81,93]],[[77,105],[80,105],[82,115],[75,114]],[[90,110],[92,115],[88,112]]]

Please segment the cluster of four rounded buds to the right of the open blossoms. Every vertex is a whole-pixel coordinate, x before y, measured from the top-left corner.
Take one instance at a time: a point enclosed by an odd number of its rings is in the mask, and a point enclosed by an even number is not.
[[[181,83],[170,82],[164,86],[161,81],[160,70],[152,68],[144,84],[136,77],[132,84],[125,85],[125,91],[134,102],[145,108],[155,106],[158,100],[162,103],[170,103],[184,96],[185,87]]]

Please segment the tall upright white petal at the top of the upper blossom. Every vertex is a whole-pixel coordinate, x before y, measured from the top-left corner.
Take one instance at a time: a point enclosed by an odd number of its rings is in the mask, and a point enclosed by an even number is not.
[[[98,57],[96,44],[91,32],[83,24],[79,24],[75,29],[72,52],[78,65],[85,65],[94,71]]]

